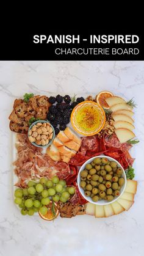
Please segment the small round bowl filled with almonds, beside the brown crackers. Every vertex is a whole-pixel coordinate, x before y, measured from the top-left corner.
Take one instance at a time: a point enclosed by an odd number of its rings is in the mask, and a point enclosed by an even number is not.
[[[54,127],[46,120],[38,120],[29,127],[28,138],[35,147],[48,147],[54,136]]]

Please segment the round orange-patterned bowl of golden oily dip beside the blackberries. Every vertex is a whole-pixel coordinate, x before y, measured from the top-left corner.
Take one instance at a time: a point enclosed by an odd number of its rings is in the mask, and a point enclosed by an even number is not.
[[[71,113],[71,125],[74,130],[84,136],[99,133],[106,122],[104,109],[93,101],[83,101]]]

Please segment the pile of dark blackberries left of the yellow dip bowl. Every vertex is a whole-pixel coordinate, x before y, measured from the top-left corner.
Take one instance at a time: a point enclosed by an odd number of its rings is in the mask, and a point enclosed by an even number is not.
[[[57,95],[55,97],[49,97],[49,103],[52,106],[49,107],[49,112],[47,115],[47,119],[54,127],[56,135],[59,131],[64,131],[70,122],[70,116],[73,108],[78,104],[84,101],[83,97],[77,98],[76,101],[71,102],[71,97],[69,95],[65,95],[62,97],[61,95]]]

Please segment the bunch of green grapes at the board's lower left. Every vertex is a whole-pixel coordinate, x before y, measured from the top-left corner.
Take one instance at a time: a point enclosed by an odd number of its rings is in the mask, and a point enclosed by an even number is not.
[[[51,200],[65,203],[75,193],[74,187],[67,187],[66,181],[59,180],[57,176],[52,177],[52,180],[42,177],[39,183],[31,180],[27,186],[26,189],[15,190],[15,203],[21,208],[21,214],[29,216],[38,211],[45,215],[48,213],[46,205]]]

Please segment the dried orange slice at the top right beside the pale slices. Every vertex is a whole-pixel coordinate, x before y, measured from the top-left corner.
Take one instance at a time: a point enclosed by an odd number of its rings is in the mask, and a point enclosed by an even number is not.
[[[96,96],[96,102],[101,105],[103,108],[108,109],[109,105],[106,103],[106,98],[110,98],[113,96],[112,92],[108,92],[107,90],[103,90],[102,92],[99,92]]]

